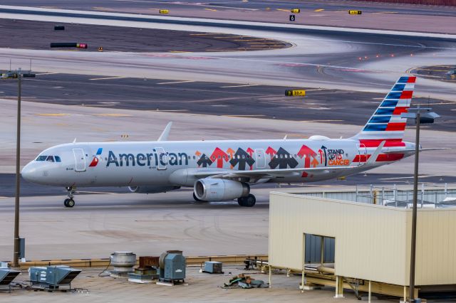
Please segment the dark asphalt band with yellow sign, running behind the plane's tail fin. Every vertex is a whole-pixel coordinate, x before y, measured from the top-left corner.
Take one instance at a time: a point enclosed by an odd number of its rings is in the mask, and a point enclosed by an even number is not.
[[[16,81],[4,80],[1,84],[0,97],[15,100]],[[285,89],[291,88],[306,87],[39,74],[24,80],[22,96],[31,102],[61,105],[348,123],[360,127],[366,124],[385,96],[350,90],[310,89],[306,91],[306,97],[286,97]],[[442,116],[435,124],[423,127],[456,131],[456,115],[452,111],[456,110],[456,102],[415,97],[413,105],[430,105]],[[356,111],[346,111],[346,108],[356,108]],[[413,126],[412,122],[410,126]]]

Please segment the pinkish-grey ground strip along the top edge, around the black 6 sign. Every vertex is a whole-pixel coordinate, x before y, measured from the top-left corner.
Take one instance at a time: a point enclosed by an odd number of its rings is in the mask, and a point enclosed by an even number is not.
[[[420,6],[393,3],[369,3],[363,1],[226,1],[206,3],[190,1],[135,1],[96,0],[58,1],[14,0],[2,1],[5,5],[35,6],[44,9],[71,9],[83,11],[120,12],[142,15],[159,15],[159,9],[169,9],[168,18],[175,16],[217,18],[222,20],[265,21],[274,23],[310,24],[321,26],[343,26],[348,28],[383,28],[401,31],[423,31],[430,33],[456,33],[454,6]],[[301,9],[294,22],[289,21],[290,9]],[[362,15],[348,15],[348,9],[360,9]],[[423,20],[426,26],[419,26]]]

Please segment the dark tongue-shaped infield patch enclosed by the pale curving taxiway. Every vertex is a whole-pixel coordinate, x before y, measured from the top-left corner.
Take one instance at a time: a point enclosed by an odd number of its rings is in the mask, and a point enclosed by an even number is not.
[[[50,43],[86,43],[81,51],[130,51],[130,52],[196,52],[262,50],[290,47],[290,43],[274,39],[223,35],[221,37],[189,31],[172,31],[151,28],[118,28],[115,26],[94,26],[87,24],[66,24],[64,31],[54,31],[51,22],[0,19],[0,36],[14,36],[5,41],[6,48],[36,50],[50,49]],[[253,40],[252,40],[253,39]],[[62,50],[62,48],[53,48]],[[78,50],[75,48],[66,50]]]

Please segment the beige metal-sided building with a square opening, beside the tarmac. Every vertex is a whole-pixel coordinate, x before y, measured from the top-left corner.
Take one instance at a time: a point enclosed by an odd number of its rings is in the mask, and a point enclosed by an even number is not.
[[[302,271],[305,235],[321,235],[335,238],[334,276],[407,291],[411,209],[273,192],[269,220],[271,267]],[[456,290],[456,208],[418,209],[416,261],[418,289]]]

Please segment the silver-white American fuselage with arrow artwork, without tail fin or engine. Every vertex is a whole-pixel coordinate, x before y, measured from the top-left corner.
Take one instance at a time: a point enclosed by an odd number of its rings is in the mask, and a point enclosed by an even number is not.
[[[405,148],[405,147],[404,147]],[[373,149],[356,139],[281,139],[180,142],[96,142],[51,147],[24,167],[24,178],[54,186],[193,186],[195,171],[248,171],[334,166],[361,166]],[[381,155],[372,165],[408,156]],[[53,160],[43,160],[54,156]],[[56,161],[56,157],[58,160]],[[288,174],[262,182],[312,182],[347,176],[360,170]]]

